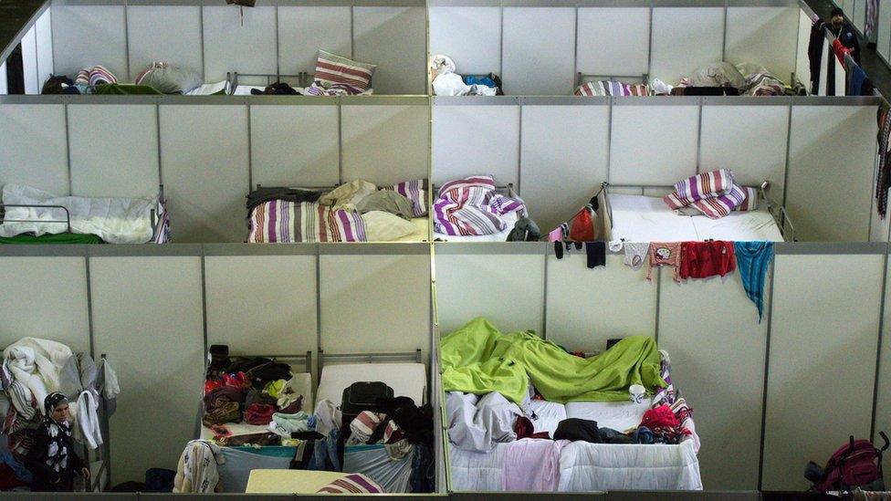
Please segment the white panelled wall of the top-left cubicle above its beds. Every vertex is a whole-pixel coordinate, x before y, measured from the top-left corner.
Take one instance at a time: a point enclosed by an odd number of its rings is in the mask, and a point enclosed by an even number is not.
[[[43,22],[26,36],[29,50],[49,48],[29,94],[50,72],[74,76],[102,65],[132,81],[154,61],[194,70],[204,82],[237,72],[246,75],[242,84],[267,85],[267,77],[250,75],[312,74],[319,49],[376,65],[375,94],[426,94],[426,11],[417,0],[261,0],[244,8],[222,0],[54,0],[48,15],[51,28]]]

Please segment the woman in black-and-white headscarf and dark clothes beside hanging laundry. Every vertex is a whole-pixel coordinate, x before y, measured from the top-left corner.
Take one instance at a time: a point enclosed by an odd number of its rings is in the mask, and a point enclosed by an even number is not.
[[[68,399],[55,391],[43,402],[44,422],[34,432],[25,465],[34,474],[32,490],[71,492],[75,475],[89,478],[89,469],[75,452],[68,424]]]

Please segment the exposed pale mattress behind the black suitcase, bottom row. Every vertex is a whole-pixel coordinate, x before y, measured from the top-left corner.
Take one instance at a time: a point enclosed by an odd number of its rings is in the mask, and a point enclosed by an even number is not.
[[[343,390],[358,381],[383,381],[394,396],[410,397],[421,405],[426,401],[427,370],[423,363],[347,363],[322,368],[316,402],[340,404]]]

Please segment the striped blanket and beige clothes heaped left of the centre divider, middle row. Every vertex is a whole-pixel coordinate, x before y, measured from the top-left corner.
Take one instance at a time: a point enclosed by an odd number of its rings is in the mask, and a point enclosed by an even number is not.
[[[378,189],[357,180],[330,192],[257,188],[247,195],[249,243],[387,242],[417,232],[426,180]]]

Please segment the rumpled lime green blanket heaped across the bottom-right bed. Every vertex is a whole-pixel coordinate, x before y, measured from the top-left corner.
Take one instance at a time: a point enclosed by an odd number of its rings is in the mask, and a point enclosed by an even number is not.
[[[501,334],[485,318],[443,337],[443,389],[485,394],[498,391],[520,403],[529,381],[550,402],[620,402],[628,387],[665,388],[659,351],[646,336],[622,339],[603,354],[582,359],[534,332]]]

